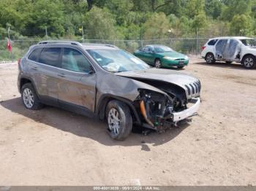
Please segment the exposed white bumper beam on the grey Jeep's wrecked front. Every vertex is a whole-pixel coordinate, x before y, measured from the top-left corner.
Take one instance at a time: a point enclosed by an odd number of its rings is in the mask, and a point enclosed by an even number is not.
[[[186,119],[187,117],[192,117],[193,115],[197,114],[197,111],[200,107],[201,100],[200,100],[200,98],[192,98],[191,102],[195,103],[195,104],[181,112],[173,113],[173,122],[178,122],[178,121]]]

